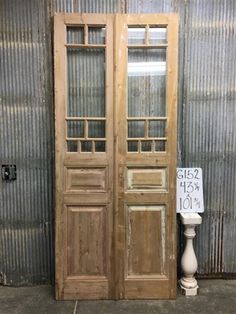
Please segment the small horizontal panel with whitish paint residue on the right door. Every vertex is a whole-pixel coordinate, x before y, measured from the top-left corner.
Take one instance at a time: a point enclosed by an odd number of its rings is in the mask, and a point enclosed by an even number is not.
[[[128,190],[167,190],[167,168],[127,169]]]

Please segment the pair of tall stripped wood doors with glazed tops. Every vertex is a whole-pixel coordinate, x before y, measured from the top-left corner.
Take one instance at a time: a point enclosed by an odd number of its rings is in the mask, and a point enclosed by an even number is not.
[[[175,14],[54,19],[56,298],[175,298]]]

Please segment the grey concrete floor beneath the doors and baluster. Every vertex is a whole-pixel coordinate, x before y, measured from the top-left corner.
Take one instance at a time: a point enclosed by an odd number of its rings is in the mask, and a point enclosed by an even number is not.
[[[0,287],[0,314],[236,313],[236,280],[199,280],[199,295],[176,301],[55,301],[51,286]]]

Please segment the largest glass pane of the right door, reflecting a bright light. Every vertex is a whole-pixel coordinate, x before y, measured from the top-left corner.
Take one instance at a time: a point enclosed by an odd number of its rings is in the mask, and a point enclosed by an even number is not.
[[[166,50],[129,49],[128,116],[165,116]]]

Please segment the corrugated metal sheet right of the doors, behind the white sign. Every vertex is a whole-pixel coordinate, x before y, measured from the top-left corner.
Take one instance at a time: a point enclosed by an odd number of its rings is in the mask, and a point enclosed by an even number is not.
[[[189,1],[183,163],[204,175],[200,274],[236,272],[236,3]]]

